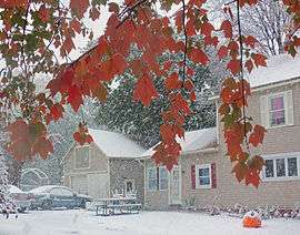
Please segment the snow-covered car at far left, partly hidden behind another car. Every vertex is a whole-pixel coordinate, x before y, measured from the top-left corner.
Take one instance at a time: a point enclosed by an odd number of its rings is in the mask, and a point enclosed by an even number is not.
[[[11,197],[18,212],[24,212],[31,206],[31,201],[33,200],[33,194],[29,192],[23,192],[14,185],[9,185],[8,188],[9,197]]]

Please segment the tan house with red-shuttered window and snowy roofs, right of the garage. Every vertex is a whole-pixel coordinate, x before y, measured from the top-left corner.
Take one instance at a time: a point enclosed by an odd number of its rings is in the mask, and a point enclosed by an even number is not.
[[[142,154],[146,208],[164,210],[189,202],[198,207],[237,203],[300,206],[300,55],[276,55],[248,79],[252,96],[247,112],[268,131],[258,149],[266,160],[259,188],[239,183],[231,174],[217,115],[216,129],[186,133],[179,163],[171,172],[153,165],[152,150]],[[220,101],[214,100],[218,108]]]

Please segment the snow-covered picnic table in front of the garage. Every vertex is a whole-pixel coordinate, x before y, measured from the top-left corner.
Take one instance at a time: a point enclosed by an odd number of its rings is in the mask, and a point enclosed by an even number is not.
[[[141,206],[136,197],[99,198],[94,202],[96,215],[101,216],[139,213]]]

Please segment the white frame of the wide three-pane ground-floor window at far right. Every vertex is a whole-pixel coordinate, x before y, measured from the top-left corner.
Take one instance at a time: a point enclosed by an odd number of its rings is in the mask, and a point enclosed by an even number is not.
[[[289,167],[288,167],[288,159],[297,159],[297,171],[298,176],[288,176]],[[272,182],[272,181],[291,181],[291,180],[300,180],[300,152],[293,153],[282,153],[282,154],[270,154],[263,156],[264,160],[273,160],[273,177],[266,177],[266,166],[263,166],[262,171],[262,180],[263,182]],[[286,167],[286,176],[277,176],[277,165],[276,160],[284,159],[284,167]]]

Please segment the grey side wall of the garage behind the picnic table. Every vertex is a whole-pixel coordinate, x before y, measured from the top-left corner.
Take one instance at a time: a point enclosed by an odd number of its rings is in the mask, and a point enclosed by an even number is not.
[[[124,191],[124,181],[133,180],[137,198],[143,203],[143,166],[137,160],[111,159],[110,168],[110,193]],[[111,195],[112,196],[112,195]]]

